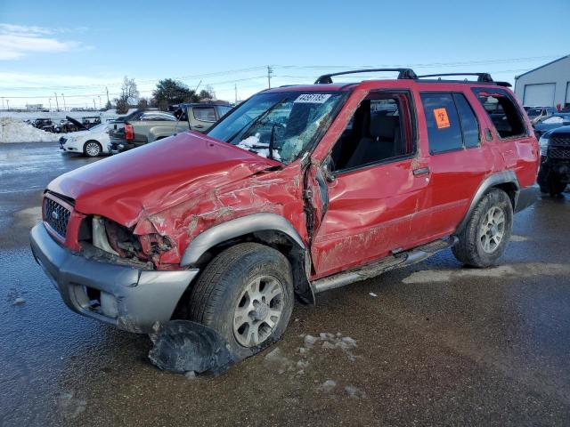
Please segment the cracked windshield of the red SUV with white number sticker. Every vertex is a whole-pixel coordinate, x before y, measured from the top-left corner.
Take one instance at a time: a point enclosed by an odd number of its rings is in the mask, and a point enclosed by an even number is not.
[[[342,98],[343,93],[259,93],[208,135],[287,165],[329,127]]]

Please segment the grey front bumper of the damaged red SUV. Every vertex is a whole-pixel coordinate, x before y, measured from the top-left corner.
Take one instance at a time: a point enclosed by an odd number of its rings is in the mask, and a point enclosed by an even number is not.
[[[156,271],[88,260],[60,246],[42,223],[30,232],[37,263],[69,309],[120,329],[149,333],[167,322],[199,270]]]

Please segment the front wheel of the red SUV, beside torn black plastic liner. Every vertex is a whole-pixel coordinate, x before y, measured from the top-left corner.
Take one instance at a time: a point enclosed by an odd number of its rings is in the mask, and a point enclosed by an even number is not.
[[[269,246],[242,243],[218,254],[202,272],[191,290],[189,318],[212,327],[247,358],[281,338],[294,298],[287,258]],[[272,315],[277,311],[279,316]]]

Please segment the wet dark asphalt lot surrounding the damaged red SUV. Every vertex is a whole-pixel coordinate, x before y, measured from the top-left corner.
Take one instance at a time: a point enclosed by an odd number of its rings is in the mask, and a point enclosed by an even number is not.
[[[516,215],[497,268],[445,251],[321,294],[272,349],[191,380],[153,367],[147,337],[65,308],[32,259],[45,184],[91,161],[0,145],[0,425],[570,423],[570,194]],[[305,344],[321,333],[339,336]]]

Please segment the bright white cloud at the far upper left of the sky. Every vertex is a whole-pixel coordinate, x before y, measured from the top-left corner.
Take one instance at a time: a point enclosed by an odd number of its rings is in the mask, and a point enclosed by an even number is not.
[[[85,28],[77,28],[82,30]],[[69,28],[25,27],[0,23],[0,60],[18,60],[29,53],[69,52],[84,47],[76,41],[59,40],[55,35]]]

